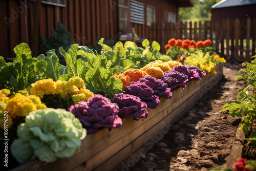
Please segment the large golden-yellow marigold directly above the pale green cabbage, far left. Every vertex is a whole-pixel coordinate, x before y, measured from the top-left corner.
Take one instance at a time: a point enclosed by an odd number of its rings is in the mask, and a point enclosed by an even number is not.
[[[12,116],[27,116],[29,112],[36,111],[36,105],[28,97],[17,93],[6,103],[5,110]]]

